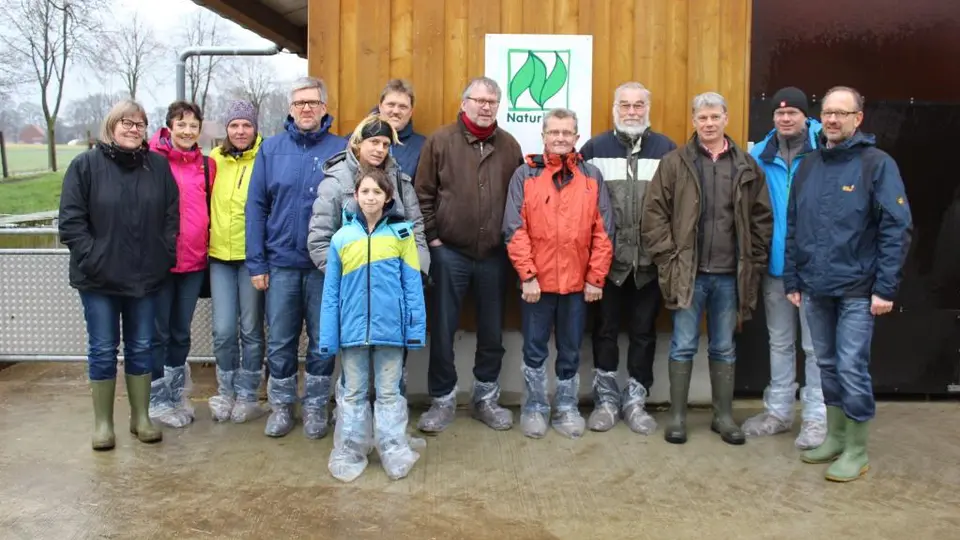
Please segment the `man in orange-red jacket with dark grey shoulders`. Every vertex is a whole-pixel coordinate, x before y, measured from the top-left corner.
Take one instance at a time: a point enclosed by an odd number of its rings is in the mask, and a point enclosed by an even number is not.
[[[580,343],[587,302],[603,296],[613,261],[614,219],[600,170],[575,150],[577,115],[553,109],[543,117],[544,153],[529,155],[510,180],[503,216],[507,253],[523,281],[523,380],[520,429],[547,433],[550,331],[556,327],[557,392],[553,428],[583,435],[577,409]]]

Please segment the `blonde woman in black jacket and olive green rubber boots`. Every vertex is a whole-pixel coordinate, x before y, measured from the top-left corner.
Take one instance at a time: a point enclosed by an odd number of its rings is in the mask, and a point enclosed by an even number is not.
[[[130,432],[145,443],[163,438],[148,416],[154,293],[176,262],[179,193],[167,161],[148,150],[146,131],[140,104],[114,105],[96,147],[70,163],[60,195],[60,241],[87,323],[94,450],[115,444],[121,323]]]

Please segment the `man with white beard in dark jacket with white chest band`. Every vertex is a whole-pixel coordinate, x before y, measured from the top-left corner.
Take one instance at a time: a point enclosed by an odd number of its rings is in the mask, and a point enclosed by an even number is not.
[[[607,275],[593,329],[594,410],[587,421],[593,431],[607,431],[623,415],[635,433],[649,435],[657,428],[646,412],[653,386],[653,358],[657,344],[657,314],[661,295],[657,269],[640,244],[640,221],[647,185],[660,158],[677,145],[650,130],[650,91],[627,82],[613,94],[615,129],[587,141],[580,153],[603,174],[616,221],[613,265]],[[620,349],[617,338],[627,309],[629,379],[621,396],[617,388]]]

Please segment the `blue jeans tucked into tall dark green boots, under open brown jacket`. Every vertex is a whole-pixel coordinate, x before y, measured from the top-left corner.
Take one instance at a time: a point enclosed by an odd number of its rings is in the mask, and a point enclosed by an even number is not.
[[[737,329],[737,278],[733,274],[697,274],[690,307],[673,312],[670,359],[692,362],[700,350],[700,318],[707,310],[707,357],[736,362],[733,333]]]

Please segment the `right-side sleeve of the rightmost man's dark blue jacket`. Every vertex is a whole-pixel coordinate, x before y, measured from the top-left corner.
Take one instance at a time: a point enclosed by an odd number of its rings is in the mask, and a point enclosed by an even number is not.
[[[913,217],[900,170],[883,154],[874,167],[873,207],[878,210],[877,276],[873,294],[892,301],[897,296],[903,265],[910,251]]]

